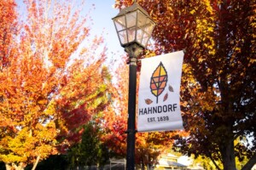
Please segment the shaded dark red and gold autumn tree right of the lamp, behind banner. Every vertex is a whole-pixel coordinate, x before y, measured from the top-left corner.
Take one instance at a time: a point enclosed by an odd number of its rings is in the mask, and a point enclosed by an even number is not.
[[[255,0],[137,2],[157,22],[156,53],[185,50],[181,102],[190,135],[177,138],[180,151],[221,161],[224,170],[236,169],[236,156],[247,156],[242,169],[251,169],[256,163]],[[117,0],[116,7],[131,3]]]

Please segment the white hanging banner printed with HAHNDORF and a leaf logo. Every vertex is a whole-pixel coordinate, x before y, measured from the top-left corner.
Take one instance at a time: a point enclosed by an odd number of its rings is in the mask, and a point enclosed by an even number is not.
[[[142,59],[137,131],[183,129],[179,91],[183,51]]]

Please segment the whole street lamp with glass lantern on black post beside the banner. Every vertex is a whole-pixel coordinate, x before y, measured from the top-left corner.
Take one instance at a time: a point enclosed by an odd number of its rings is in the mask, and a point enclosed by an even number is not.
[[[136,117],[136,86],[137,86],[137,56],[148,44],[155,23],[137,2],[123,8],[113,18],[119,42],[129,54],[129,97],[128,97],[128,129],[126,169],[135,167],[135,117]]]

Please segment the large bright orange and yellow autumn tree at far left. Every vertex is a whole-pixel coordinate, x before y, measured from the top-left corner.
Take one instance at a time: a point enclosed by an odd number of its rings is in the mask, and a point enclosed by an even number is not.
[[[108,105],[102,37],[90,38],[84,3],[1,1],[0,161],[23,169],[67,150]],[[3,26],[3,27],[2,27]],[[14,32],[15,31],[15,32]],[[59,150],[63,149],[63,150]]]

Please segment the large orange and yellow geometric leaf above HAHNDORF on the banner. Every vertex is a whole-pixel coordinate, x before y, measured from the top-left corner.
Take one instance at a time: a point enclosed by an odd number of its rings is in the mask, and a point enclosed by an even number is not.
[[[150,81],[151,93],[156,97],[156,103],[158,103],[158,97],[166,88],[167,83],[167,71],[165,66],[160,62],[155,71],[152,74]]]

